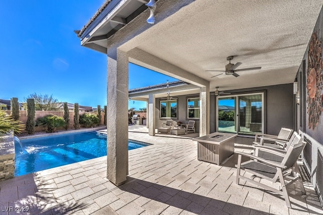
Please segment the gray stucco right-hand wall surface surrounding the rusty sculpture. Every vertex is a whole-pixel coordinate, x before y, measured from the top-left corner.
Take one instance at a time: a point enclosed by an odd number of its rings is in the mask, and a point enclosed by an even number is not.
[[[320,42],[323,42],[323,8],[320,11],[320,14],[318,16],[317,22],[315,24],[313,32],[317,34],[317,39]],[[311,39],[311,38],[310,38]],[[310,40],[309,40],[310,42]],[[317,42],[315,42],[317,44]],[[323,45],[321,45],[322,47]],[[313,47],[315,51],[317,50],[317,47]],[[305,137],[305,140],[307,142],[307,145],[304,149],[304,164],[309,172],[309,176],[311,178],[311,183],[313,187],[316,189],[318,196],[321,200],[321,203],[323,202],[323,168],[322,168],[322,160],[320,156],[323,154],[323,105],[321,105],[321,114],[319,118],[317,119],[317,124],[315,127],[311,124],[309,126],[309,116],[308,116],[308,101],[306,99],[309,96],[306,84],[308,79],[308,72],[310,68],[308,68],[308,50],[309,45],[307,46],[307,49],[304,53],[303,61],[300,62],[300,67],[298,70],[298,87],[300,92],[300,105],[297,105],[297,123],[298,123],[298,131],[299,133]],[[321,52],[321,56],[323,56],[323,53]],[[316,64],[314,64],[316,65]],[[319,72],[317,68],[315,68],[316,72]],[[316,76],[316,88],[317,86],[317,77]],[[317,93],[317,91],[316,91]],[[319,94],[321,99],[323,99],[322,92]],[[315,98],[317,99],[317,98]],[[318,99],[319,100],[319,99]],[[321,104],[323,102],[321,101]],[[316,109],[317,110],[317,109]]]

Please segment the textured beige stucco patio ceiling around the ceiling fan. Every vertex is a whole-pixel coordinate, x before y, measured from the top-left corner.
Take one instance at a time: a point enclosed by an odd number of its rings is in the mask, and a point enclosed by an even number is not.
[[[123,2],[133,1],[138,2]],[[83,37],[82,45],[100,51],[102,48],[97,47],[107,48],[109,55],[118,44],[132,52],[130,62],[192,84],[194,79],[204,79],[210,82],[210,91],[216,86],[230,90],[286,84],[294,82],[322,7],[321,0],[197,0],[182,1],[192,3],[165,16],[165,10],[177,4],[171,2],[157,2],[154,25],[139,23],[148,18],[146,10],[114,36],[88,42],[93,36],[106,35],[102,29],[111,28],[102,22]],[[261,69],[237,72],[237,78],[225,74],[211,78],[221,72],[206,70],[225,70],[228,56],[234,56],[231,63],[242,63],[237,69]],[[156,59],[155,65],[149,65]],[[156,66],[163,64],[167,66]],[[183,72],[167,71],[170,65]]]

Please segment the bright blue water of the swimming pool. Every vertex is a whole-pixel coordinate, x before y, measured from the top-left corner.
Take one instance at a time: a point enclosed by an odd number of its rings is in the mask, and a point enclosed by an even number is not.
[[[129,140],[128,149],[149,144]],[[106,136],[78,132],[30,139],[15,139],[15,176],[59,167],[106,155]]]

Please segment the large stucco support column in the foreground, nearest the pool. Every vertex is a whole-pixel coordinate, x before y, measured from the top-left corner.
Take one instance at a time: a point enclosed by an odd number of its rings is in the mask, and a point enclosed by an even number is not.
[[[107,179],[119,186],[128,175],[128,56],[107,58]]]

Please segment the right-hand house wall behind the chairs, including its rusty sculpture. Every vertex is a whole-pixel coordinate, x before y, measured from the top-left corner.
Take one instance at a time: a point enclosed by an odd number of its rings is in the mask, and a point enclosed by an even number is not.
[[[323,42],[323,9],[321,9],[312,37],[304,53],[303,61],[298,70],[298,90],[300,103],[297,105],[297,127],[299,133],[307,141],[304,149],[304,164],[309,173],[313,187],[323,202],[323,70],[322,70],[322,42]],[[315,35],[316,34],[316,38]],[[314,57],[314,58],[313,58]],[[311,59],[311,64],[309,60]],[[315,83],[310,84],[310,71],[315,69]],[[315,96],[310,88],[315,89]]]

